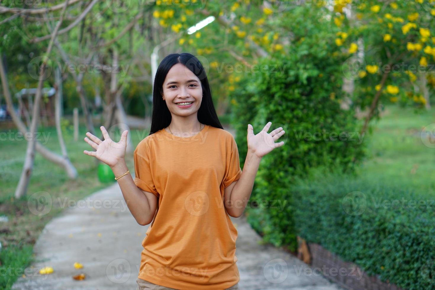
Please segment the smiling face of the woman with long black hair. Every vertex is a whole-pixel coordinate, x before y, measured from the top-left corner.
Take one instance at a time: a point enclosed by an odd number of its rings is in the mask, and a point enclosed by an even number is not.
[[[201,81],[181,63],[175,64],[163,82],[163,100],[172,114],[189,116],[201,107]],[[178,105],[177,103],[190,103]]]

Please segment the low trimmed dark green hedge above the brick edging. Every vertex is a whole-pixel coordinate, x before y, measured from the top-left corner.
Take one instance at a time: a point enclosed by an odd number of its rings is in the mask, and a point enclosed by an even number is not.
[[[296,181],[283,198],[290,197],[296,232],[307,242],[403,289],[433,289],[433,197],[325,172]]]

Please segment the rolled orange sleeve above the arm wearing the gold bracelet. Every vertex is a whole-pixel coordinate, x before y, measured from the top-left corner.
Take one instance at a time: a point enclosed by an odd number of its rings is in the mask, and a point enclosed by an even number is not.
[[[151,167],[147,157],[147,153],[144,155],[139,154],[138,148],[134,150],[134,183],[141,190],[151,192],[158,197],[158,192],[154,185],[154,181],[151,174]]]

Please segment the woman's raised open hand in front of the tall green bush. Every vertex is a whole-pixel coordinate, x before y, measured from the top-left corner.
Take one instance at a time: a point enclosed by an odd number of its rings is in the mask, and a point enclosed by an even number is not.
[[[264,126],[263,130],[261,130],[257,135],[254,135],[254,128],[251,124],[248,124],[248,151],[251,150],[252,153],[258,157],[263,157],[275,148],[284,145],[283,141],[278,143],[275,143],[275,141],[284,135],[285,131],[282,129],[282,127],[279,127],[273,130],[271,133],[268,133],[271,125],[272,122],[268,122],[266,126]]]

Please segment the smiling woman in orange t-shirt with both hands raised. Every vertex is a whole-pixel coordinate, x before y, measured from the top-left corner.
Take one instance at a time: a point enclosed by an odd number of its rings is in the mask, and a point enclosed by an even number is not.
[[[141,225],[137,290],[239,289],[235,256],[240,217],[251,196],[261,158],[284,142],[282,127],[268,122],[254,135],[248,124],[248,154],[240,168],[237,144],[219,122],[201,62],[173,53],[160,63],[153,92],[151,132],[134,150],[135,178],[124,161],[127,133],[104,141],[87,133],[97,151],[84,153],[108,164],[127,206]],[[121,178],[122,177],[122,178]]]

